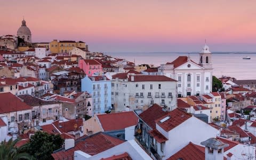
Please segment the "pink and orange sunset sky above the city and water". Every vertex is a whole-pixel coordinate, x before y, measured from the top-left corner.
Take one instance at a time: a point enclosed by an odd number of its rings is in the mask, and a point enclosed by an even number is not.
[[[2,1],[0,35],[23,16],[33,42],[84,41],[90,51],[256,51],[256,1]]]

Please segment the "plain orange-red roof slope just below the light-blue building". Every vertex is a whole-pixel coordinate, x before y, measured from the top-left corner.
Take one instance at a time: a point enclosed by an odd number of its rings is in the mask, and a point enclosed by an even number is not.
[[[104,131],[123,130],[126,127],[137,125],[139,119],[133,111],[100,114],[97,117]]]

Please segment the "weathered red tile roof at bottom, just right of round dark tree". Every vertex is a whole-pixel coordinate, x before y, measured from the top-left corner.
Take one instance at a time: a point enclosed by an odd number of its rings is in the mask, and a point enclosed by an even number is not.
[[[91,156],[101,153],[107,149],[115,147],[125,140],[113,137],[106,133],[98,132],[89,137],[79,139],[75,142],[75,147],[65,150],[61,148],[53,152],[52,156],[54,159],[67,159],[67,157],[74,159],[74,151],[81,150]]]

